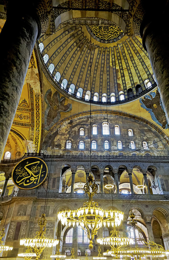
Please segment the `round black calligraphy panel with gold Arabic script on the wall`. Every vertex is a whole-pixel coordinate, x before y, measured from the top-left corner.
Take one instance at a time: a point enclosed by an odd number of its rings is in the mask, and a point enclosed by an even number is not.
[[[12,180],[20,189],[38,187],[47,177],[47,165],[37,157],[27,157],[17,164],[12,172]]]

